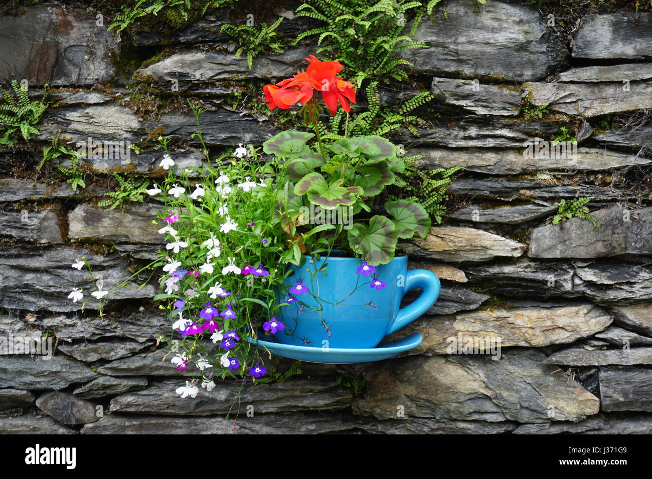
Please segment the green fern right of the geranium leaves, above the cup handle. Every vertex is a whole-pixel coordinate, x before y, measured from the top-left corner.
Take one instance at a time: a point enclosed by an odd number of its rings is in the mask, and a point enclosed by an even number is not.
[[[421,158],[409,156],[404,158],[406,169],[403,173],[397,173],[394,184],[390,188],[391,199],[406,199],[421,203],[428,214],[437,222],[441,223],[445,216],[446,201],[448,199],[448,187],[452,182],[452,176],[464,169],[462,166],[451,168],[438,168],[432,171],[424,171],[417,168],[416,161]]]

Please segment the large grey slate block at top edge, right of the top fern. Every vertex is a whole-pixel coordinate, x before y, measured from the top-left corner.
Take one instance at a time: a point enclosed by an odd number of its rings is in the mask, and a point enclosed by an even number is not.
[[[567,55],[537,9],[495,0],[478,7],[461,0],[437,9],[434,22],[424,18],[413,36],[430,48],[400,56],[426,74],[531,81],[544,78]]]

